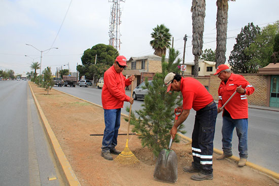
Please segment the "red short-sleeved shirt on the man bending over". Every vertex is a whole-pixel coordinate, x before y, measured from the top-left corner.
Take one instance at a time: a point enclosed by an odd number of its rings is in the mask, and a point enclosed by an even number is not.
[[[183,96],[183,109],[198,111],[213,101],[212,95],[194,78],[181,78],[180,90]]]

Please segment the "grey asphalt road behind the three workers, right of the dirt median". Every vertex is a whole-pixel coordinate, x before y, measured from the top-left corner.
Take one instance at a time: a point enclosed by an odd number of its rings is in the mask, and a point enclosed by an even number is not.
[[[65,93],[74,95],[76,97],[88,100],[95,104],[101,105],[101,89],[92,87],[54,87],[54,89],[63,91]],[[128,96],[130,91],[126,91]],[[144,104],[143,100],[135,100],[132,105],[132,110],[141,109]],[[129,107],[128,102],[124,102],[125,106]],[[125,109],[122,113],[128,115]],[[274,172],[279,172],[279,117],[278,112],[268,111],[262,109],[249,108],[248,120],[248,161],[265,167]],[[195,110],[190,111],[188,119],[184,122],[185,134],[191,138],[193,131],[193,124],[195,120]],[[216,132],[214,139],[214,147],[222,150],[222,114],[218,114],[216,122]],[[238,138],[234,130],[232,141],[233,155],[238,156]]]

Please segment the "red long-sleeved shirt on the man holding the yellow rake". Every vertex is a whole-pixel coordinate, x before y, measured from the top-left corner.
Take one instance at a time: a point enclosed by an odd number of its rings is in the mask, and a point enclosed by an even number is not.
[[[117,73],[112,65],[103,76],[102,87],[102,107],[104,109],[122,108],[124,101],[129,101],[130,97],[125,94],[125,87],[131,84],[122,72]]]

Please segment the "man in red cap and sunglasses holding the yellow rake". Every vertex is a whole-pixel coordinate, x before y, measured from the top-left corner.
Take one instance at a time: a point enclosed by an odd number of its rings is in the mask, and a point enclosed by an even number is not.
[[[102,87],[102,107],[104,110],[104,124],[101,146],[101,156],[106,160],[113,160],[112,154],[120,154],[116,150],[118,129],[120,127],[121,108],[124,101],[133,104],[133,98],[125,94],[125,87],[134,81],[134,76],[126,79],[122,71],[127,66],[124,56],[117,56],[114,64],[104,72]]]

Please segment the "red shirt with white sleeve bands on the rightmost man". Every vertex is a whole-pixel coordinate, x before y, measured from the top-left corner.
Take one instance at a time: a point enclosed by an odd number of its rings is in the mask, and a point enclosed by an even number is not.
[[[246,94],[250,95],[255,91],[255,88],[241,75],[231,73],[227,83],[221,82],[218,94],[218,107],[223,106],[230,96],[235,92],[236,87],[242,86],[246,89]],[[232,99],[226,104],[225,109],[229,112],[232,119],[246,119],[248,118],[248,101],[245,94],[236,93]],[[224,112],[223,112],[224,116]]]

